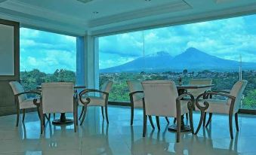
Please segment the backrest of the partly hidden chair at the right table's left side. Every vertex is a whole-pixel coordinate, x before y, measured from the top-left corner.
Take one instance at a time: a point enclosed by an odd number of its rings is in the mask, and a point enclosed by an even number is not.
[[[140,81],[131,80],[131,81],[126,81],[126,83],[128,84],[128,89],[130,93],[136,92],[136,91],[143,91],[143,87]],[[144,96],[143,93],[135,93],[133,96],[133,99],[134,101],[136,101],[138,99],[142,99],[143,96]]]

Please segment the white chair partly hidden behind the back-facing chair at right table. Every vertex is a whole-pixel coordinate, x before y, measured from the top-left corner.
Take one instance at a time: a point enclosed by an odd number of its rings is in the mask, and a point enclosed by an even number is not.
[[[126,81],[128,84],[129,89],[129,96],[130,96],[130,102],[131,102],[131,126],[134,122],[134,108],[143,108],[142,98],[143,95],[143,88],[141,85],[141,82],[138,80],[131,80]],[[151,126],[153,129],[155,128],[153,125],[152,117],[149,116]],[[168,117],[165,117],[165,120],[169,123]]]

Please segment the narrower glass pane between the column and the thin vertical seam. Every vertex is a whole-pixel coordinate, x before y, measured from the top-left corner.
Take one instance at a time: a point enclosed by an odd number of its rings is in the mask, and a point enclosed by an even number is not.
[[[127,65],[134,59],[143,60],[142,32],[99,38],[100,86],[107,80],[114,82],[109,93],[110,101],[130,101],[126,81],[137,78],[134,77],[134,69],[143,70],[141,61],[134,65]]]

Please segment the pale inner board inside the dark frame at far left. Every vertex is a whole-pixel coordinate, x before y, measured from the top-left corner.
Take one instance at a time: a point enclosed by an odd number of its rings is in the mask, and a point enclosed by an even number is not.
[[[14,26],[0,24],[0,75],[14,75]]]

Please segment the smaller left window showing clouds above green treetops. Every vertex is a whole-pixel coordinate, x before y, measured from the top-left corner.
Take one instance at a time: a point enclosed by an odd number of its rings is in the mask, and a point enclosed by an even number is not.
[[[76,82],[76,38],[20,28],[20,81],[26,90],[43,82]]]

